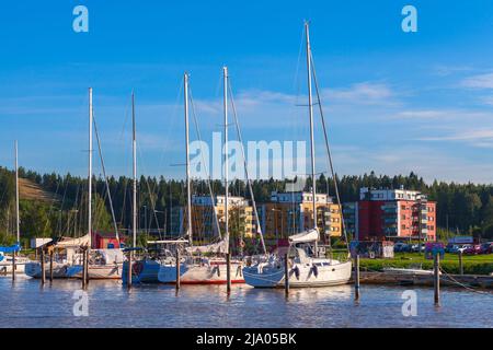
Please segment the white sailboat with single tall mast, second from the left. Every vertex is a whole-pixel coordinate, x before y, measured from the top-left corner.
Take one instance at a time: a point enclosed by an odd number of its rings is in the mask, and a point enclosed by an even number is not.
[[[124,255],[122,249],[92,249],[92,129],[93,129],[93,108],[92,108],[92,88],[89,88],[89,174],[88,174],[88,234],[87,242],[80,246],[89,248],[89,279],[119,279]],[[101,149],[101,148],[100,148]],[[101,152],[100,152],[101,156]],[[81,261],[67,268],[67,277],[82,278],[83,266]]]

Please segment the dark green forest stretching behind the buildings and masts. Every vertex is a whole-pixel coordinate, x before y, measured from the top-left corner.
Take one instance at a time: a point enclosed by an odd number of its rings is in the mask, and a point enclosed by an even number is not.
[[[20,168],[20,178],[35,184],[49,192],[46,198],[20,200],[21,233],[24,240],[33,236],[79,236],[88,231],[88,179],[70,174],[38,174]],[[360,187],[400,188],[420,190],[437,202],[437,228],[440,238],[457,233],[493,238],[493,185],[456,184],[434,180],[427,184],[422,177],[409,175],[376,175],[374,172],[359,176],[337,178],[341,201],[356,201]],[[118,230],[125,233],[131,224],[131,178],[119,176],[93,178],[93,230],[114,231],[112,206]],[[223,195],[220,180],[211,182],[215,195]],[[286,180],[260,179],[252,182],[256,202],[270,200],[273,190],[284,190]],[[311,180],[306,190],[311,188]],[[107,190],[108,189],[108,190]],[[137,184],[138,226],[147,232],[175,232],[176,209],[185,203],[185,184],[181,179],[141,176]],[[230,194],[251,199],[242,180],[230,184]],[[334,196],[332,178],[323,174],[317,179],[317,191]],[[192,182],[194,195],[208,195],[205,180]],[[111,194],[111,196],[108,196]],[[111,202],[110,199],[111,198]],[[173,223],[174,220],[174,223]],[[0,167],[0,244],[12,243],[15,238],[15,177],[8,168]]]

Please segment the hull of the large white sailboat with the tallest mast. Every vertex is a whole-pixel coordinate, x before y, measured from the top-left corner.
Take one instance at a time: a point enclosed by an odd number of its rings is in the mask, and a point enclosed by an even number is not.
[[[284,288],[284,266],[251,266],[243,269],[245,283],[254,288]],[[351,280],[352,262],[296,265],[289,270],[290,288],[330,287]]]

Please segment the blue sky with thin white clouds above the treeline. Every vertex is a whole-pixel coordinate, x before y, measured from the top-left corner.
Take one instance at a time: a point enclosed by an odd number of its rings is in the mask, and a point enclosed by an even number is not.
[[[72,28],[79,4],[88,33]],[[415,33],[402,31],[406,4],[417,11]],[[87,174],[92,86],[107,173],[131,174],[134,91],[139,174],[183,177],[183,73],[210,144],[222,129],[222,66],[244,141],[307,141],[305,20],[339,174],[493,183],[488,0],[3,3],[0,165],[13,166],[19,140],[21,166]],[[314,120],[317,172],[325,172]]]

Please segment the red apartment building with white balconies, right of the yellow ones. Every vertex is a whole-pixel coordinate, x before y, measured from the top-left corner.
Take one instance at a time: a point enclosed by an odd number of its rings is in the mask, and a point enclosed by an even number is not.
[[[436,240],[436,203],[413,190],[359,190],[356,206],[358,241],[381,238]]]

